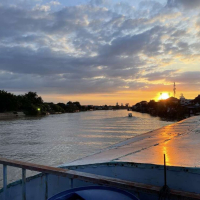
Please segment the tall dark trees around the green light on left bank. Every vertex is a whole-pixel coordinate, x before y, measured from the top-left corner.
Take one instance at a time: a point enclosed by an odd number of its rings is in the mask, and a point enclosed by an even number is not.
[[[0,90],[0,112],[22,111],[26,115],[38,115],[47,113],[77,112],[82,110],[79,102],[69,101],[64,103],[46,103],[36,92],[28,92],[24,95],[14,95]],[[84,108],[85,109],[85,108]],[[84,110],[83,109],[83,110]]]

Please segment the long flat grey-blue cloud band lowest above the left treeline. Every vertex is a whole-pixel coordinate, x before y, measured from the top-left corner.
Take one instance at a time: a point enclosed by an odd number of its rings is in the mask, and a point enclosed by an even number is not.
[[[26,83],[26,84],[25,84]],[[143,83],[127,83],[121,79],[93,77],[79,79],[67,75],[25,75],[0,72],[0,84],[4,89],[16,91],[38,91],[45,94],[89,94],[89,93],[114,93],[123,88],[140,89]],[[42,87],[41,87],[42,85]],[[83,90],[84,88],[84,90]]]

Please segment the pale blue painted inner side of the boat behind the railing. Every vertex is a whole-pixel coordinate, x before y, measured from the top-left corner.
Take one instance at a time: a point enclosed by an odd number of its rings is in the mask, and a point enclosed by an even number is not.
[[[163,186],[164,171],[163,166],[151,164],[131,164],[131,163],[103,163],[85,166],[73,166],[70,169],[89,172],[93,174],[119,178],[122,180],[134,181],[148,185]],[[200,169],[167,167],[167,185],[171,189],[200,193]],[[90,182],[74,179],[73,186],[83,187],[94,185]],[[48,178],[48,197],[71,189],[70,180],[66,177],[49,175]],[[28,178],[26,182],[26,200],[45,200],[45,180],[44,176],[35,176]],[[159,194],[151,195],[145,191],[129,192],[138,196],[140,200],[159,200]],[[0,190],[0,200],[3,200],[3,191]],[[22,200],[21,182],[18,181],[9,185],[7,189],[8,200]],[[174,199],[176,200],[176,199]]]

